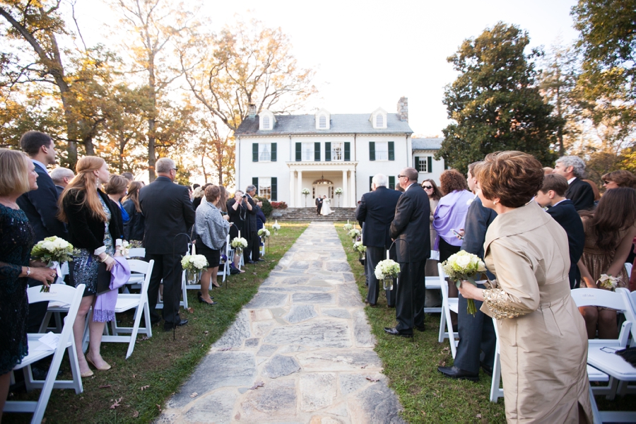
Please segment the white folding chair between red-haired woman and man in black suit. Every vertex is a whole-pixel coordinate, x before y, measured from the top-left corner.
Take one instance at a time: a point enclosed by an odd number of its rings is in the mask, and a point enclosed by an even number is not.
[[[143,275],[143,283],[141,283],[141,292],[139,294],[120,293],[117,295],[117,305],[115,306],[115,314],[120,314],[128,310],[135,310],[133,326],[119,326],[117,319],[110,322],[110,330],[112,334],[102,336],[102,342],[128,343],[128,351],[126,351],[126,359],[130,357],[135,348],[137,334],[145,334],[146,337],[153,336],[151,326],[150,308],[148,307],[148,285],[150,285],[151,274],[155,261],[145,262],[139,259],[128,259],[131,271],[135,271]],[[141,324],[141,316],[146,321],[145,327],[139,327]]]

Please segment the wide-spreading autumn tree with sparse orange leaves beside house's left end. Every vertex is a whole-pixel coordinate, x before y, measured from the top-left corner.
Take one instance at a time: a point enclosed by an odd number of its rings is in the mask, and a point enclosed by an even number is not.
[[[290,40],[281,28],[266,28],[259,20],[237,20],[218,35],[199,33],[182,40],[179,59],[187,86],[203,112],[201,155],[210,158],[219,184],[233,170],[233,131],[256,113],[298,110],[311,95],[314,71],[298,66]]]

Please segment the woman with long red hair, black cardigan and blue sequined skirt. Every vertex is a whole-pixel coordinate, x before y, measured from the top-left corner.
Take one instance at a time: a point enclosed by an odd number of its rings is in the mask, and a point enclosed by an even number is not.
[[[119,206],[101,191],[102,182],[108,182],[108,165],[102,158],[85,156],[78,160],[77,175],[59,197],[59,219],[67,223],[71,244],[79,253],[73,261],[73,283],[86,284],[75,324],[73,336],[82,377],[93,372],[88,363],[98,370],[110,370],[100,355],[100,343],[105,322],[88,323],[90,344],[86,357],[82,350],[84,323],[90,306],[95,304],[99,263],[106,264],[110,271],[115,260],[115,240],[124,234],[122,213]],[[88,363],[87,363],[88,361]]]

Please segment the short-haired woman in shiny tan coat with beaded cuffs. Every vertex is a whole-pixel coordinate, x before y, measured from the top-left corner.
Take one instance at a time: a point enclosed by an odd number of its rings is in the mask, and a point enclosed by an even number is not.
[[[476,173],[483,206],[497,212],[484,243],[497,279],[490,289],[464,282],[460,291],[497,319],[507,421],[591,423],[587,335],[570,296],[567,235],[531,201],[541,163],[491,153]]]

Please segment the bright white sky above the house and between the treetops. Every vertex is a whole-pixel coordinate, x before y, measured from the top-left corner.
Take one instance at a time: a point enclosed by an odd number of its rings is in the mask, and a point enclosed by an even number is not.
[[[331,113],[370,114],[377,107],[396,112],[404,95],[411,129],[423,136],[442,136],[448,124],[444,86],[455,78],[446,58],[463,40],[502,20],[527,30],[531,47],[549,47],[559,37],[567,44],[578,35],[570,16],[575,4],[575,0],[237,0],[204,1],[201,13],[211,16],[214,29],[231,23],[235,13],[281,27],[300,66],[317,69],[314,84],[319,93],[303,112],[320,107]],[[117,19],[95,0],[78,0],[76,8],[87,38],[86,28],[99,29]]]

